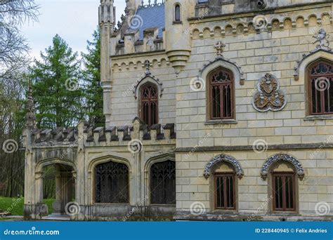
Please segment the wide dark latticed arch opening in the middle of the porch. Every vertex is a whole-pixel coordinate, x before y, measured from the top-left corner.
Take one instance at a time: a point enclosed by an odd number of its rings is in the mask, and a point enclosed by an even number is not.
[[[129,168],[109,161],[95,168],[95,202],[129,204]]]

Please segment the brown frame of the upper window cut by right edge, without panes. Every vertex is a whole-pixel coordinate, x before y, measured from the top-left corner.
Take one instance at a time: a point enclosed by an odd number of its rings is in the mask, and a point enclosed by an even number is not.
[[[316,67],[320,64],[326,64],[326,65],[333,65],[332,62],[330,62],[329,60],[324,60],[324,59],[320,59],[317,60],[313,63],[311,63],[311,65],[308,65],[307,67],[307,75],[306,75],[306,81],[307,81],[307,89],[308,89],[308,94],[307,94],[307,99],[308,99],[308,115],[329,115],[329,114],[333,114],[333,112],[325,112],[325,91],[318,91],[316,89],[313,90],[314,86],[313,86],[313,81],[316,81],[316,79],[320,78],[320,77],[331,77],[332,80],[330,81],[330,88],[333,88],[333,74],[318,74],[318,75],[312,75],[311,74],[311,70],[313,69],[313,67]],[[316,105],[318,108],[318,102],[315,102],[313,98],[313,91],[315,92],[315,95],[317,95],[318,93],[320,94],[320,109],[321,112],[313,112],[313,105]],[[329,93],[329,90],[327,89],[327,92]],[[329,100],[329,99],[328,99]],[[329,102],[330,103],[330,102]]]

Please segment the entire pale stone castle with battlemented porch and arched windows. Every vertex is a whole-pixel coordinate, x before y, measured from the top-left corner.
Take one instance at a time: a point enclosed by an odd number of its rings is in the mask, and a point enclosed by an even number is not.
[[[332,220],[332,0],[115,10],[100,1],[105,127],[38,130],[29,98],[26,218],[55,165],[73,220]]]

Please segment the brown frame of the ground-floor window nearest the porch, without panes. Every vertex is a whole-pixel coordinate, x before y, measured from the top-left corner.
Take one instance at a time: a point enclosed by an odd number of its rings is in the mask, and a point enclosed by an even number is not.
[[[225,178],[231,177],[233,179],[233,207],[228,207],[227,205],[227,199],[228,199],[228,194],[227,194],[227,188],[226,188],[226,181]],[[218,206],[218,188],[217,188],[217,179],[218,178],[223,178],[223,202],[225,206],[221,207]],[[230,194],[230,191],[229,191]],[[220,197],[221,198],[221,197]],[[229,197],[230,198],[230,197]],[[214,202],[215,202],[215,209],[218,210],[236,210],[236,204],[237,204],[237,199],[236,199],[236,178],[235,178],[235,173],[214,173]],[[220,204],[221,205],[221,204]]]

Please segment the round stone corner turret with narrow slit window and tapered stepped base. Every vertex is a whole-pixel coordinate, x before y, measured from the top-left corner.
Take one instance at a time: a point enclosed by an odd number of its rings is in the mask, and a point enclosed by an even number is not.
[[[181,72],[190,57],[190,24],[192,0],[165,1],[166,53],[176,74]]]

